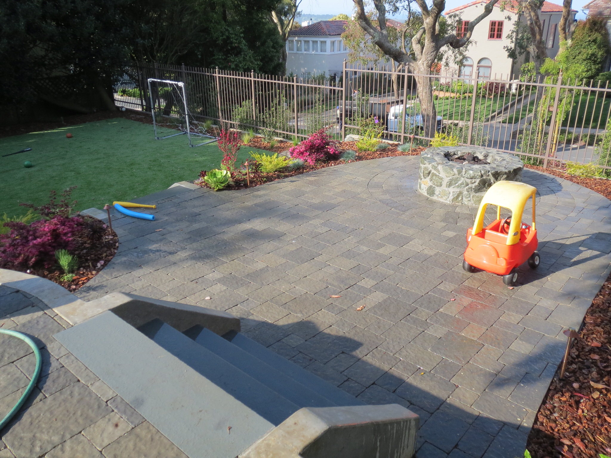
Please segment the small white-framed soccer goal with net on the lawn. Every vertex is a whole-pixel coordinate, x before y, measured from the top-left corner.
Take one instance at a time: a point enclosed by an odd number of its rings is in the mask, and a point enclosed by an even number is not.
[[[189,147],[199,147],[218,140],[218,137],[208,134],[192,115],[184,82],[149,78],[148,94],[155,140],[186,134]],[[207,140],[200,142],[202,139]]]

